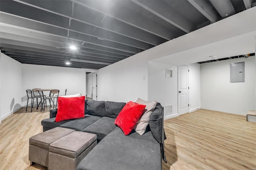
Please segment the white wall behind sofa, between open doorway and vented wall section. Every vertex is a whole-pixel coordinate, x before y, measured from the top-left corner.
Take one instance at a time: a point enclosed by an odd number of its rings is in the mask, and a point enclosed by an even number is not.
[[[98,70],[98,100],[148,99],[148,58],[144,52]]]

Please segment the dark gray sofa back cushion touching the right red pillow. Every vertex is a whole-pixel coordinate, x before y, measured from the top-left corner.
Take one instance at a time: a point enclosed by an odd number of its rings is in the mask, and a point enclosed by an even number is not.
[[[106,101],[105,108],[106,108],[106,115],[107,117],[116,118],[120,111],[123,109],[126,103],[122,102],[114,102],[114,101]]]

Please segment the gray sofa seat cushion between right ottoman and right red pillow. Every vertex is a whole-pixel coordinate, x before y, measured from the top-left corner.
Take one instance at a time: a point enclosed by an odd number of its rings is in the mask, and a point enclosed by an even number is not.
[[[97,134],[97,139],[102,140],[107,134],[112,132],[116,125],[114,124],[115,119],[110,117],[102,117],[100,120],[92,123],[88,127],[84,128],[82,132]]]

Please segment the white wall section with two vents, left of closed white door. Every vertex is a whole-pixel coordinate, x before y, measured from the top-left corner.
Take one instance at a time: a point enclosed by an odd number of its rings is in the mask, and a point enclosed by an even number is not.
[[[165,77],[165,69],[172,69],[172,77]],[[165,119],[178,116],[177,70],[177,66],[148,62],[148,101],[156,100],[163,107],[172,105],[172,114],[165,114]]]

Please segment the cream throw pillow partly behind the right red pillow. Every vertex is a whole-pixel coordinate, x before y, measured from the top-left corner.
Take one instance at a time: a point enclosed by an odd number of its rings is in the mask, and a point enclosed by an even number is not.
[[[146,128],[149,123],[150,115],[151,115],[152,111],[155,109],[157,102],[156,102],[156,100],[154,100],[152,102],[147,102],[147,101],[144,101],[144,100],[138,98],[136,103],[146,105],[146,108],[144,109],[144,113],[142,114],[142,116],[136,123],[135,127],[133,128],[138,134],[142,135],[146,131]]]

